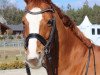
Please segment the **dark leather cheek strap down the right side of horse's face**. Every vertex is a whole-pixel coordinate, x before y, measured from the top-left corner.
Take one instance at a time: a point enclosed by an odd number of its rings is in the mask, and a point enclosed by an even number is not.
[[[44,48],[44,51],[45,51],[45,56],[49,62],[49,65],[51,67],[51,75],[55,75],[55,69],[54,69],[54,65],[52,63],[52,56],[50,54],[50,51],[51,51],[51,45],[54,41],[54,36],[55,36],[55,30],[56,30],[56,20],[55,18],[52,19],[53,20],[53,28],[52,28],[52,31],[50,33],[50,38],[47,42],[47,44],[45,45],[45,48]],[[47,69],[48,71],[48,69]]]

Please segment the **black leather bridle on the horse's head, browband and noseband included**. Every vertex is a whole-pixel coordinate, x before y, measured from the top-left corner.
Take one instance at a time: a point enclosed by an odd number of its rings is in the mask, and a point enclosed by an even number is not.
[[[39,11],[39,12],[31,12],[28,9],[25,9],[25,12],[29,13],[29,14],[32,14],[32,15],[38,15],[38,14],[42,14],[42,13],[45,13],[45,12],[52,12],[52,13],[54,13],[54,9],[53,8],[47,8],[47,9],[43,9],[42,11]],[[40,34],[31,33],[25,39],[25,49],[27,49],[27,47],[28,47],[29,39],[36,38],[37,40],[39,40],[44,45],[45,57],[48,60],[50,66],[51,66],[52,75],[54,75],[54,66],[52,64],[52,57],[51,57],[51,54],[50,54],[50,49],[51,49],[52,42],[54,40],[54,35],[55,35],[55,30],[56,30],[56,20],[55,20],[55,17],[50,19],[48,23],[51,24],[51,27],[52,27],[48,41],[46,41],[44,39],[44,37],[42,37]],[[25,64],[26,64],[25,66],[26,66],[27,75],[31,75],[29,65],[27,63],[25,63]]]

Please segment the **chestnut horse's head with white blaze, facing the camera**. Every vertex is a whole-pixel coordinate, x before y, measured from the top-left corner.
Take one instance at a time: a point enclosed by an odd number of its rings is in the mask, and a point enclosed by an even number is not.
[[[54,9],[46,0],[25,0],[24,25],[26,62],[31,68],[42,66],[44,48],[54,33]]]

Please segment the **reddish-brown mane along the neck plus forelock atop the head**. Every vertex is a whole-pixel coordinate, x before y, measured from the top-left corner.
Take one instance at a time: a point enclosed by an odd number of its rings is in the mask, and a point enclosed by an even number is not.
[[[65,27],[70,27],[70,29],[73,31],[73,33],[88,47],[92,45],[91,41],[86,38],[83,33],[77,28],[77,25],[75,24],[74,21],[71,20],[67,15],[65,15],[59,7],[57,7],[51,0],[24,0],[27,4],[28,3],[41,3],[45,2],[50,4],[58,13],[59,17],[61,18],[63,24]]]

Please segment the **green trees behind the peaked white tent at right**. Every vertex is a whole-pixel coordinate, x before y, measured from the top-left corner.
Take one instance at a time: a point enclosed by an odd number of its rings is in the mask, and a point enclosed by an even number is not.
[[[100,24],[100,6],[96,4],[93,6],[93,8],[91,8],[86,1],[83,7],[80,9],[72,9],[70,4],[68,4],[67,8],[68,10],[65,11],[65,14],[71,17],[72,20],[77,23],[77,25],[82,23],[86,15],[89,17],[92,24]]]

